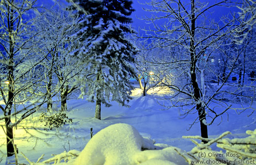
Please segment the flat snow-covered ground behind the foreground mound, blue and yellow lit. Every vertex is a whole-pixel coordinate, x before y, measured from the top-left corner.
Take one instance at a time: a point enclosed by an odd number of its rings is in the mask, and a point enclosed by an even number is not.
[[[118,103],[112,103],[109,108],[102,107],[101,119],[94,118],[95,103],[90,103],[85,99],[68,100],[67,116],[72,118],[72,123],[67,123],[59,129],[45,131],[44,124],[38,121],[39,112],[24,120],[14,129],[14,142],[19,149],[19,163],[28,164],[21,152],[31,161],[45,154],[44,159],[51,158],[51,154],[60,154],[69,150],[81,151],[91,138],[90,128],[93,134],[116,123],[127,123],[133,126],[142,137],[154,139],[157,143],[165,143],[182,150],[190,151],[195,145],[182,136],[200,135],[199,123],[187,131],[197,114],[190,114],[186,118],[181,118],[179,109],[171,108],[164,110],[159,103],[168,105],[168,100],[162,100],[164,90],[157,89],[149,91],[148,95],[141,96],[141,90],[136,89],[132,92],[133,100],[129,102],[130,108],[122,107]],[[209,138],[216,138],[225,131],[230,131],[232,135],[228,138],[244,138],[246,130],[256,129],[256,115],[247,115],[251,111],[236,114],[235,111],[228,111],[223,115],[223,122],[219,124],[218,118],[214,124],[208,127]],[[2,125],[3,123],[1,123]],[[5,164],[4,132],[0,130],[0,164]],[[3,156],[3,157],[2,157]],[[2,158],[1,158],[2,157]]]

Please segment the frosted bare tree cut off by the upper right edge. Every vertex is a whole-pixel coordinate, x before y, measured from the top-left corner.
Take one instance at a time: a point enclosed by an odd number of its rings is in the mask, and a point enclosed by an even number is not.
[[[238,12],[237,26],[232,32],[234,33],[233,42],[244,48],[243,57],[240,59],[239,70],[239,83],[242,81],[243,85],[246,72],[250,75],[252,80],[256,76],[256,71],[252,64],[254,57],[251,57],[251,55],[255,53],[256,1],[243,0],[241,3],[241,6],[237,6],[240,10]]]

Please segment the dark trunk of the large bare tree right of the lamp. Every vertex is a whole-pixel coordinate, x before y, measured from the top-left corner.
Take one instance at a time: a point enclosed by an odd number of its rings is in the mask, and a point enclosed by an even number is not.
[[[194,50],[194,32],[195,32],[195,5],[194,5],[194,0],[192,0],[191,3],[191,11],[192,11],[192,16],[191,16],[191,31],[192,31],[192,36],[191,36],[191,41],[190,41],[190,55],[191,55],[191,67],[190,67],[190,73],[191,73],[191,82],[193,86],[193,99],[196,102],[196,110],[198,111],[198,116],[199,116],[199,121],[200,121],[200,127],[201,127],[201,137],[202,138],[208,138],[208,131],[207,131],[207,125],[204,124],[203,120],[206,122],[205,118],[205,109],[200,103],[200,90],[198,87],[198,83],[196,81],[196,62],[197,62],[197,56],[195,55],[195,50]],[[202,140],[203,143],[207,143],[207,141]]]

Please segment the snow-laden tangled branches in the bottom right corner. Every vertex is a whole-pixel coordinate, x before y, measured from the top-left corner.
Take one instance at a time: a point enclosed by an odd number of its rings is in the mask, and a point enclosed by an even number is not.
[[[207,163],[212,164],[232,164],[232,165],[249,165],[256,164],[256,129],[254,131],[246,131],[249,135],[247,138],[224,138],[224,136],[231,134],[230,132],[224,132],[218,138],[201,138],[199,136],[184,137],[207,140],[206,144],[199,144],[192,139],[197,146],[194,147],[187,155],[183,155],[187,162],[194,164]],[[211,145],[217,143],[217,147],[224,150],[215,151],[211,149]],[[199,161],[199,162],[198,162]]]

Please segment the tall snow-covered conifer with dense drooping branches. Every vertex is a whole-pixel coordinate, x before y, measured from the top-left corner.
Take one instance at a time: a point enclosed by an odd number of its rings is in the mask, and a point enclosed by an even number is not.
[[[71,55],[86,64],[81,95],[96,101],[95,117],[100,119],[101,103],[108,107],[111,100],[127,106],[131,99],[129,78],[137,49],[125,36],[130,32],[128,16],[134,9],[131,0],[73,1],[83,13],[80,30],[72,35],[79,45]]]

